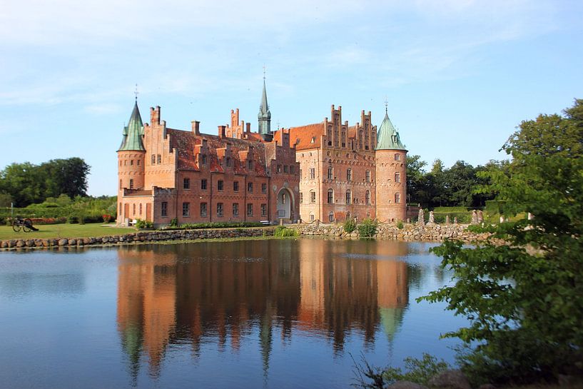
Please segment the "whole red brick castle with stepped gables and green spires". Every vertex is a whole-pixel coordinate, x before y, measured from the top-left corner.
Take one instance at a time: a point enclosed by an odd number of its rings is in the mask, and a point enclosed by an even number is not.
[[[118,224],[405,219],[407,150],[386,112],[378,132],[370,112],[348,126],[334,106],[320,123],[270,121],[265,79],[258,133],[238,109],[216,136],[198,121],[168,128],[159,106],[144,124],[136,99],[118,149]]]

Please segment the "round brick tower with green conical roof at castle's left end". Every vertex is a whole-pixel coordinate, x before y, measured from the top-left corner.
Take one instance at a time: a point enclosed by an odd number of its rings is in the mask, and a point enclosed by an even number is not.
[[[123,197],[123,189],[143,188],[146,148],[142,138],[143,123],[136,99],[128,126],[123,128],[123,139],[118,149],[118,199]]]

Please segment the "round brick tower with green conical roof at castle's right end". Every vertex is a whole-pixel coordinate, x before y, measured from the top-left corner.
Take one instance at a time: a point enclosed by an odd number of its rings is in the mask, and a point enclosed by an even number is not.
[[[381,222],[405,220],[407,215],[407,150],[392,126],[387,108],[377,133],[376,209]]]

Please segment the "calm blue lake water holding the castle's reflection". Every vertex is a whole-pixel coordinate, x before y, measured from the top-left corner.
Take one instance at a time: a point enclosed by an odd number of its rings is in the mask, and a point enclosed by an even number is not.
[[[415,298],[431,243],[205,242],[0,253],[0,388],[350,388],[463,325]]]

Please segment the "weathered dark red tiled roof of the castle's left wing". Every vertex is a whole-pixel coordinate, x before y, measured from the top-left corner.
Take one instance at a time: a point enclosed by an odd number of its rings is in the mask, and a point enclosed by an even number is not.
[[[220,163],[217,150],[230,145],[231,158],[233,158],[233,172],[235,174],[249,173],[247,163],[241,161],[240,153],[252,153],[253,171],[257,176],[267,176],[265,169],[265,146],[260,141],[238,139],[238,138],[220,138],[216,135],[201,133],[195,135],[191,131],[176,130],[166,128],[166,133],[171,137],[171,148],[178,151],[178,170],[200,171],[198,158],[196,158],[195,148],[201,146],[203,140],[206,140],[208,146],[208,166],[209,170],[214,173],[224,173],[225,169]]]

